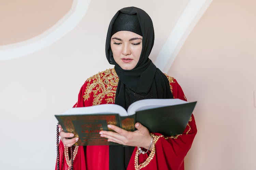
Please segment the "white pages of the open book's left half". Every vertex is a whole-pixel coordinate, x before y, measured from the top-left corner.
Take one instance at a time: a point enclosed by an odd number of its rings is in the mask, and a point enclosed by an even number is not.
[[[126,110],[117,104],[100,104],[88,107],[74,107],[60,115],[119,114],[128,116]]]

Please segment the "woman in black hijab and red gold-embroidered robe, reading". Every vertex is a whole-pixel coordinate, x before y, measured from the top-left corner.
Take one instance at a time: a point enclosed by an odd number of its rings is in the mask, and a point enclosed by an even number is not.
[[[186,100],[176,80],[163,74],[148,58],[153,44],[154,28],[147,13],[136,7],[119,10],[110,22],[105,49],[109,63],[115,68],[87,79],[74,107],[115,103],[127,109],[141,99]],[[197,132],[193,115],[184,133],[176,136],[150,133],[139,122],[135,124],[137,131],[134,132],[108,126],[115,132],[101,131],[101,137],[129,147],[73,147],[74,170],[182,170],[184,157]],[[71,165],[68,149],[78,138],[67,139],[73,134],[63,131],[60,136],[60,169],[68,169]]]

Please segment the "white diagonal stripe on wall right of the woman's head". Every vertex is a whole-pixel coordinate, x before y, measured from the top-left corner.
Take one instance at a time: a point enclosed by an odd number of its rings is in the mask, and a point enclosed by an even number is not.
[[[189,33],[211,2],[212,0],[190,0],[188,2],[154,62],[160,70],[163,72],[169,71]]]

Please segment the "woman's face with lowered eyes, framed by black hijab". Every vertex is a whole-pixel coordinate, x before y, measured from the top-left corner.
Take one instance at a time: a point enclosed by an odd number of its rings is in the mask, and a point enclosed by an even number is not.
[[[142,36],[131,31],[118,31],[111,37],[111,50],[115,62],[124,70],[133,69],[142,50]]]

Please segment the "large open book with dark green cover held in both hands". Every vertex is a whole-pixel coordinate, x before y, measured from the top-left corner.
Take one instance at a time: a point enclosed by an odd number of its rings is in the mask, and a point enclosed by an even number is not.
[[[55,117],[65,132],[79,137],[75,145],[117,145],[99,135],[101,130],[111,131],[108,124],[134,131],[134,124],[140,122],[150,132],[165,136],[182,134],[195,105],[196,102],[180,99],[144,99],[132,103],[127,112],[116,104],[101,104],[71,108]]]

